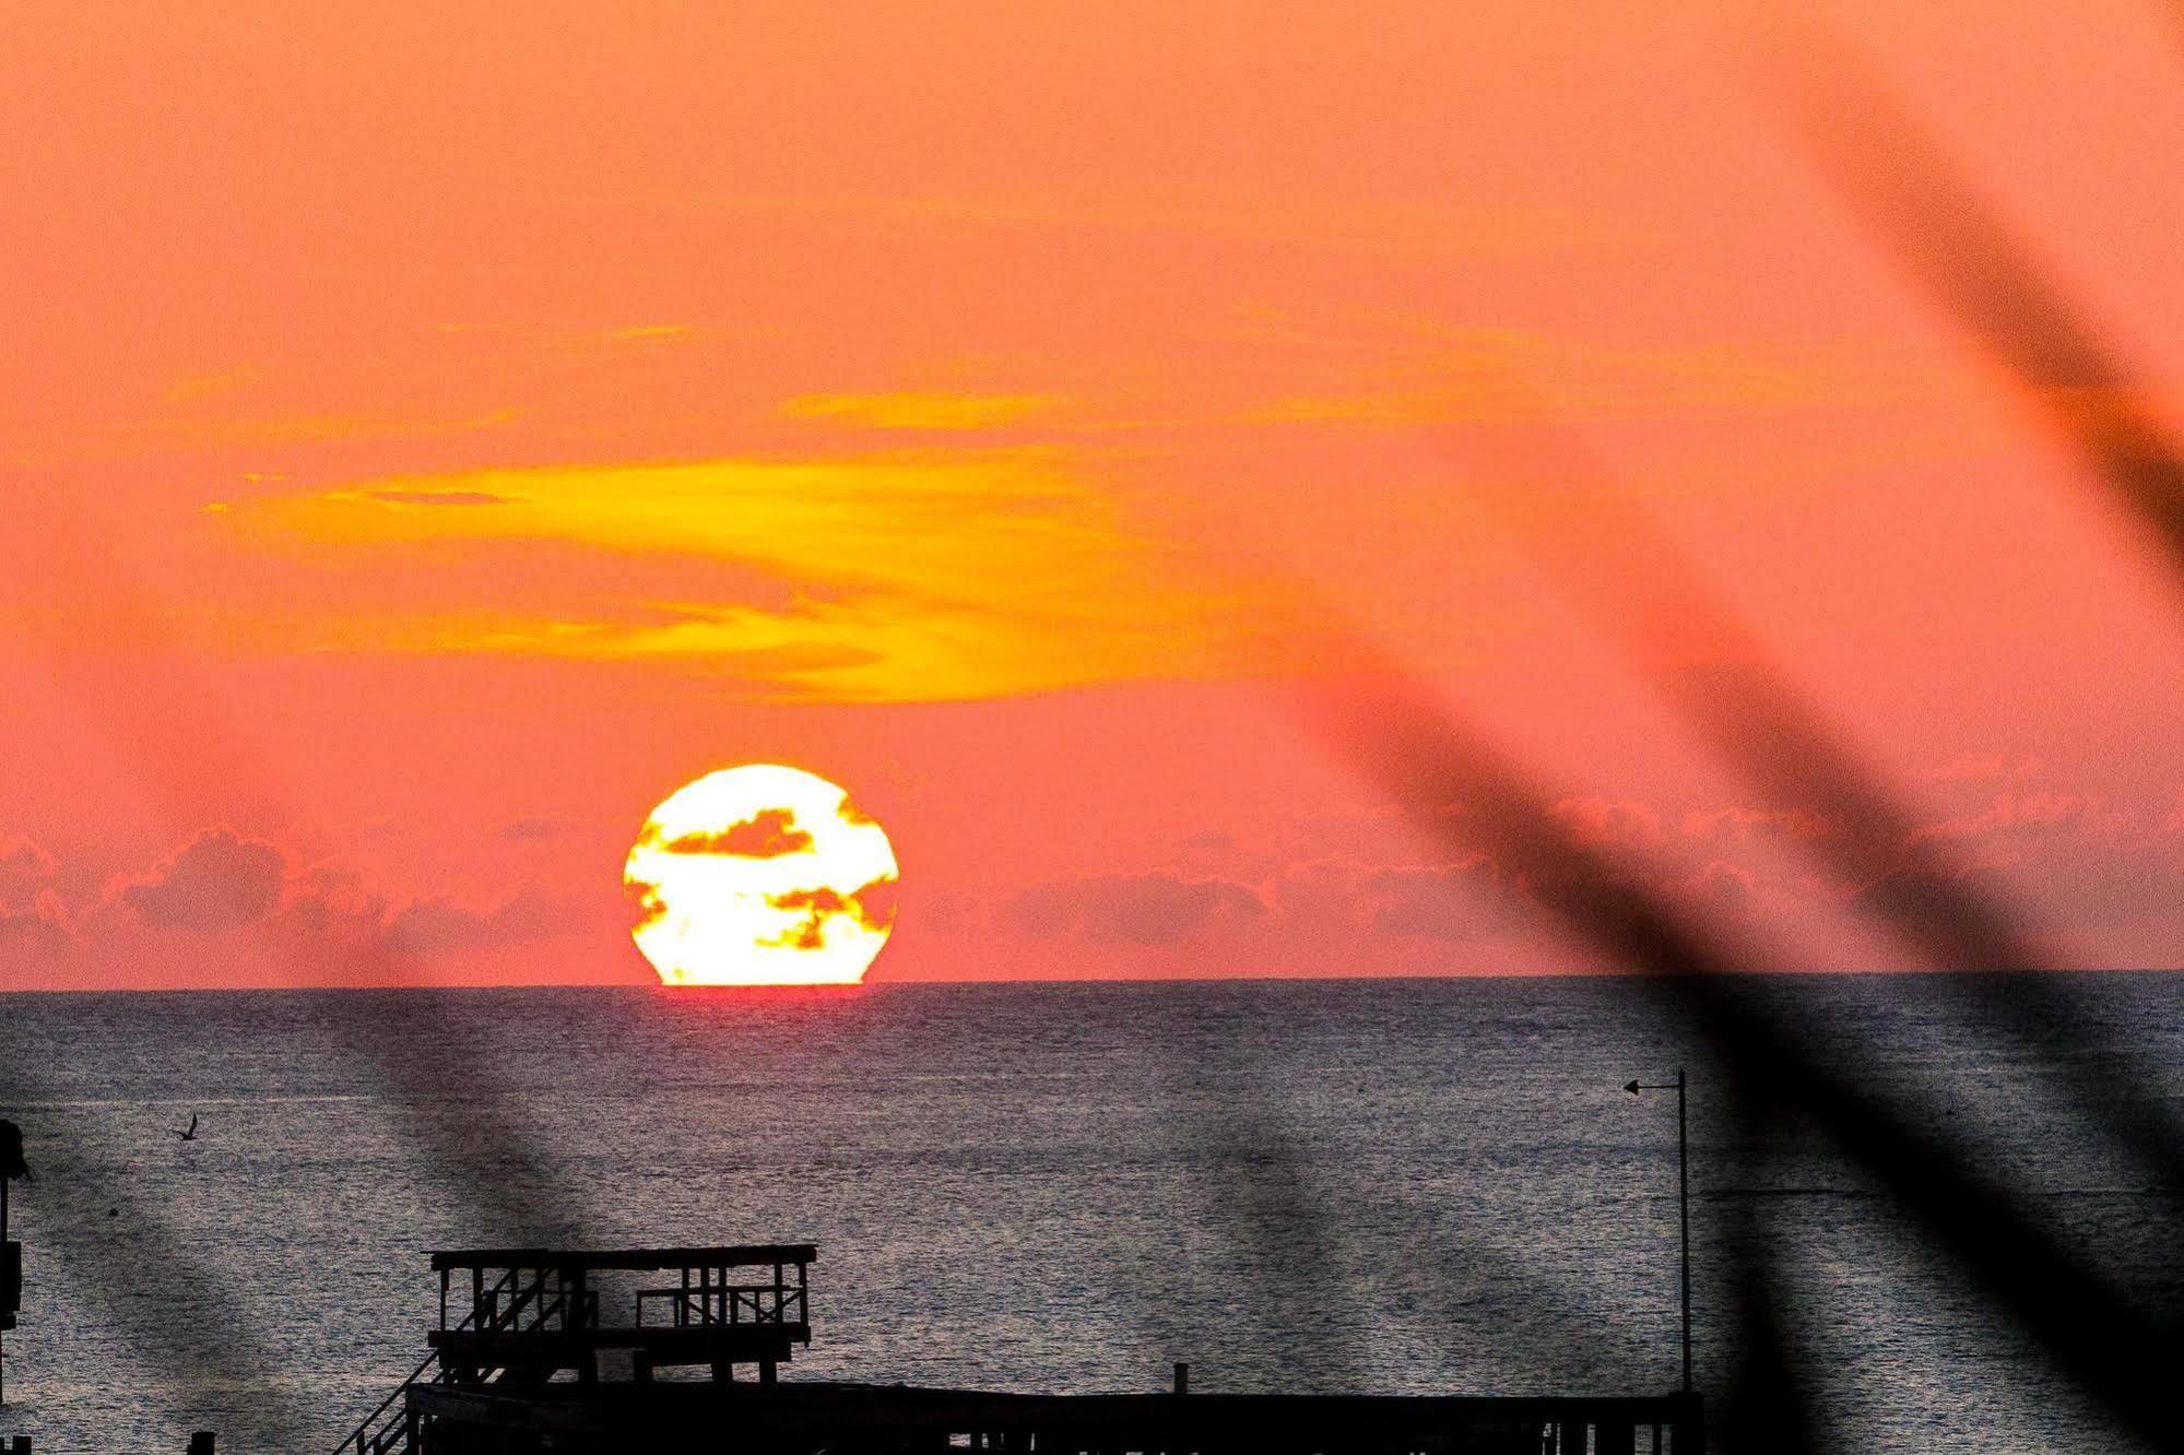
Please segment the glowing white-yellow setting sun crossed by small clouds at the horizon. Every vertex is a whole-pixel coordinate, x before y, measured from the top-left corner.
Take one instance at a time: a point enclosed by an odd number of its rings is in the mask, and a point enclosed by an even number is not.
[[[854,985],[895,920],[895,852],[841,786],[749,762],[653,808],[622,889],[666,985]]]

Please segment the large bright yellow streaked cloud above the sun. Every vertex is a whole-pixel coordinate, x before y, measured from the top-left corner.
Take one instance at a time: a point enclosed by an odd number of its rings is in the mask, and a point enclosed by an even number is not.
[[[1053,450],[476,470],[256,500],[229,520],[260,544],[577,542],[629,564],[627,610],[548,599],[489,620],[341,618],[310,644],[681,662],[767,697],[946,701],[1203,675],[1225,660],[1236,607],[1182,581]],[[791,590],[660,601],[644,577],[664,557]]]

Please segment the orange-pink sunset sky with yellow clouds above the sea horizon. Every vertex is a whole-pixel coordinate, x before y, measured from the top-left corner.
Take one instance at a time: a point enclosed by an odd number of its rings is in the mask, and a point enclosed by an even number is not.
[[[876,979],[1597,963],[1306,732],[1315,610],[1913,963],[1540,572],[1642,592],[1546,415],[2057,963],[2180,959],[2175,592],[1760,7],[443,11],[0,17],[0,987],[646,981],[620,861],[743,760],[889,828]],[[2184,33],[1828,13],[2167,409]]]

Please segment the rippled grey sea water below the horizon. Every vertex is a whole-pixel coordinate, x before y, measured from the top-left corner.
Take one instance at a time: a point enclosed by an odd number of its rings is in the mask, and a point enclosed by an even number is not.
[[[2094,1049],[2009,1033],[1968,985],[1762,994],[2075,1247],[2169,1267],[2180,1204],[2064,1092],[2099,1101],[2129,1057],[2184,1101],[2184,977],[2066,981]],[[1669,1389],[1675,1105],[1621,1084],[1677,1064],[1701,1387],[1749,1217],[1839,1448],[2099,1444],[1839,1149],[1732,1134],[1640,985],[1555,979],[0,998],[0,1114],[39,1175],[0,1433],[330,1448],[424,1355],[424,1250],[522,1243],[817,1241],[795,1376]]]

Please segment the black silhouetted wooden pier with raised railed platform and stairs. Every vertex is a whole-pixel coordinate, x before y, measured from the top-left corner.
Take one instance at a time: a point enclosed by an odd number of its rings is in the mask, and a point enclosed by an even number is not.
[[[1695,1394],[1002,1394],[782,1381],[810,1243],[437,1252],[432,1355],[356,1455],[1697,1455]],[[609,1313],[627,1309],[627,1324]],[[618,1376],[627,1359],[627,1376]],[[657,1370],[699,1370],[655,1379]],[[738,1376],[749,1370],[751,1376]]]

